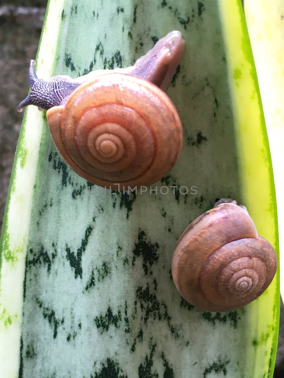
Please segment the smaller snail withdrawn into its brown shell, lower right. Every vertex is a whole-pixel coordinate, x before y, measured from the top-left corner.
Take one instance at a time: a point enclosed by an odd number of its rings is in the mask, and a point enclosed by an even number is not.
[[[178,240],[172,276],[181,296],[200,311],[230,311],[259,297],[277,268],[272,245],[247,209],[231,199],[196,218]]]

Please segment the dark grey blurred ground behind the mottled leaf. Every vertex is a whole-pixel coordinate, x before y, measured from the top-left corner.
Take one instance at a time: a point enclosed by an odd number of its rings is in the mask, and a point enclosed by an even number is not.
[[[27,96],[28,65],[36,57],[47,0],[0,0],[0,232],[22,124],[16,106]],[[284,306],[281,301],[274,378],[284,376]],[[5,378],[5,377],[3,377]]]

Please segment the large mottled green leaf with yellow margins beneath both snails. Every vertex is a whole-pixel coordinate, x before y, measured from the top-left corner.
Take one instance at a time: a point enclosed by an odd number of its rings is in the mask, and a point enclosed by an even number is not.
[[[58,156],[45,113],[25,111],[1,239],[3,376],[273,374],[279,270],[259,299],[228,313],[198,312],[170,273],[179,236],[216,198],[247,206],[278,253],[272,163],[241,3],[50,0],[37,75],[127,67],[175,29],[186,50],[167,93],[184,145],[152,186],[157,194],[110,194],[81,179]]]

